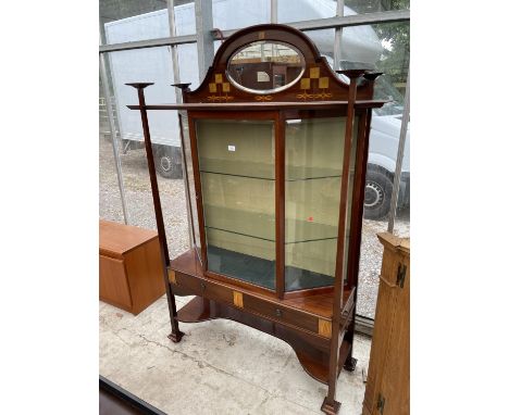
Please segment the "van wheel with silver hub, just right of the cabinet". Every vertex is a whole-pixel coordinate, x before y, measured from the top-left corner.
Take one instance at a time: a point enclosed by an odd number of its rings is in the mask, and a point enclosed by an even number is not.
[[[390,209],[393,181],[382,172],[368,171],[364,189],[364,217],[383,219]]]

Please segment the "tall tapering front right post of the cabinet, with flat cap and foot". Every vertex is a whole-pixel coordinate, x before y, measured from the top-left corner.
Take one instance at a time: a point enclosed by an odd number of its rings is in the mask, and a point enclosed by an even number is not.
[[[357,98],[357,78],[363,75],[365,70],[336,71],[345,74],[350,79],[348,90],[348,109],[345,127],[345,146],[343,150],[343,177],[339,201],[339,223],[337,227],[337,251],[336,251],[336,274],[334,281],[334,304],[333,304],[333,330],[331,338],[331,355],[328,361],[328,392],[323,400],[322,411],[326,414],[337,414],[340,403],[336,401],[336,386],[339,362],[339,345],[343,341],[344,332],[339,332],[340,314],[343,309],[343,289],[344,289],[344,252],[345,252],[345,232],[346,232],[346,211],[348,198],[348,175],[350,169],[351,136],[355,120],[355,103]],[[342,339],[339,339],[342,337]]]

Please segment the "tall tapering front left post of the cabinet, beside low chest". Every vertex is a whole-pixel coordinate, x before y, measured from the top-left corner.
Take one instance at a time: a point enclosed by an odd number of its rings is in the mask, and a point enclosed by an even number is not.
[[[161,209],[161,199],[159,197],[158,178],[156,175],[156,165],[153,163],[152,141],[150,140],[150,129],[148,125],[147,109],[145,106],[145,92],[144,89],[152,83],[126,84],[138,91],[139,112],[141,114],[141,125],[144,127],[145,150],[147,152],[147,164],[150,175],[150,187],[152,189],[153,210],[156,213],[156,223],[158,225],[159,246],[161,248],[161,262],[163,266],[164,286],[166,288],[167,309],[170,311],[170,323],[172,325],[172,332],[167,336],[173,342],[181,341],[184,334],[178,329],[178,320],[176,313],[175,295],[172,291],[172,286],[167,279],[167,269],[170,267],[170,253],[167,251],[166,232],[164,230],[164,219]]]

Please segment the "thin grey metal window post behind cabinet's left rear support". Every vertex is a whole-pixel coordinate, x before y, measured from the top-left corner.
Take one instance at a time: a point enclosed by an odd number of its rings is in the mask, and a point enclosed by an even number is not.
[[[170,24],[170,36],[176,36],[176,27],[175,27],[175,4],[174,0],[167,0],[167,20]],[[173,84],[181,84],[181,68],[178,67],[178,50],[176,45],[172,45],[172,63],[173,63]],[[181,88],[175,88],[176,95],[176,102],[182,103],[182,90]],[[184,178],[184,188],[186,189],[186,211],[187,211],[187,231],[189,234],[189,248],[193,249],[194,247],[194,238],[193,238],[193,217],[191,217],[191,210],[190,210],[190,194],[189,194],[189,181],[187,180],[187,168],[186,168],[186,161],[184,153],[184,136],[181,127],[181,120],[178,117],[178,134],[181,136],[181,158],[182,158],[182,173]]]

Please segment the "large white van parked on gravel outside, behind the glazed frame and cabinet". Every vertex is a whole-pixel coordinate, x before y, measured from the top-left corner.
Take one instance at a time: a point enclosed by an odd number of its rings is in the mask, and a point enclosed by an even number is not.
[[[280,0],[277,2],[278,23],[298,22],[332,17],[336,15],[336,2],[333,0]],[[270,0],[212,0],[213,24],[222,30],[243,28],[270,21]],[[345,8],[345,15],[356,14]],[[195,4],[187,3],[175,8],[177,35],[195,33]],[[169,36],[167,11],[140,14],[107,23],[104,33],[108,43],[133,40],[162,38]],[[332,63],[334,50],[334,29],[312,30],[307,35],[315,42],[321,53]],[[215,42],[215,49],[220,41]],[[342,61],[363,62],[375,65],[382,54],[382,43],[371,26],[346,27],[342,37]],[[142,147],[142,128],[139,114],[129,111],[136,97],[127,83],[151,81],[157,88],[146,89],[148,103],[175,102],[173,68],[167,47],[137,49],[112,52],[110,70],[116,101],[120,134],[125,149]],[[199,86],[196,45],[178,46],[179,73],[182,83],[191,83],[190,88]],[[389,210],[393,191],[393,176],[401,125],[402,97],[384,76],[376,81],[376,98],[394,102],[375,110],[371,124],[370,152],[368,161],[364,216],[382,218]],[[150,133],[157,156],[157,168],[166,178],[182,177],[181,141],[177,115],[175,112],[149,113]],[[402,162],[399,206],[409,203],[410,163],[409,141]]]

